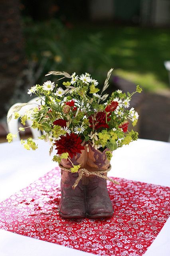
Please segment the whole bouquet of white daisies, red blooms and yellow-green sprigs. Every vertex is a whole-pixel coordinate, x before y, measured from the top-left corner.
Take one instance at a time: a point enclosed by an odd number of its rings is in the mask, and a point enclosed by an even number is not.
[[[75,73],[70,75],[67,72],[51,71],[47,75],[62,76],[68,81],[59,86],[48,80],[42,86],[36,84],[31,87],[28,94],[38,96],[42,100],[41,104],[32,108],[29,103],[30,109],[24,116],[20,116],[19,110],[26,103],[15,106],[13,113],[8,116],[8,122],[12,117],[20,118],[23,125],[26,120],[32,120],[32,128],[45,131],[39,139],[51,143],[50,155],[53,148],[56,150],[53,161],[60,163],[61,159],[69,160],[82,150],[88,152],[89,144],[101,152],[108,148],[106,154],[110,160],[113,150],[138,139],[138,132],[128,130],[129,122],[135,126],[138,121],[138,113],[129,106],[133,94],[142,92],[142,88],[136,86],[136,91],[131,94],[116,90],[108,98],[105,90],[109,86],[112,72],[113,69],[107,73],[100,92],[97,87],[99,83],[88,73],[78,76]],[[18,132],[24,130],[25,128],[20,127]],[[12,138],[16,136],[8,134],[8,142],[12,142]],[[21,140],[21,143],[27,150],[38,148],[32,138]],[[71,172],[77,172],[80,165],[72,165]]]

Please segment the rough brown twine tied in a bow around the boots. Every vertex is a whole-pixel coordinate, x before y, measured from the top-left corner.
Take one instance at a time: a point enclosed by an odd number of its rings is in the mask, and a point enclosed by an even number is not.
[[[70,168],[65,168],[63,167],[61,164],[59,164],[59,167],[64,170],[64,171],[67,171],[67,172],[71,172]],[[90,172],[88,171],[87,169],[85,168],[81,168],[79,169],[78,173],[79,173],[79,176],[77,178],[77,180],[75,181],[74,185],[72,186],[73,189],[76,188],[76,186],[79,184],[79,181],[82,179],[83,175],[85,175],[86,177],[89,177],[90,175],[95,175],[95,176],[98,176],[100,178],[103,178],[105,180],[109,180],[111,181],[112,183],[115,183],[117,185],[119,185],[120,183],[117,182],[116,180],[112,180],[111,178],[108,178],[107,176],[103,175],[103,174],[106,174],[107,172],[109,172],[111,170],[111,164],[109,165],[109,168],[107,170],[101,170],[101,171],[93,171],[93,172]]]

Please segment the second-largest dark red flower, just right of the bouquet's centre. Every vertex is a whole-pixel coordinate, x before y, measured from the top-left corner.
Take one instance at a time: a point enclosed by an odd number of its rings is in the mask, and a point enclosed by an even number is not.
[[[110,113],[107,115],[107,122],[109,122],[111,120],[111,118],[109,118],[110,116]],[[90,125],[90,128],[93,128],[93,117],[94,115],[91,115],[89,117],[89,123],[91,124]],[[94,128],[95,130],[103,127],[103,128],[109,128],[109,125],[106,123],[106,113],[105,112],[98,112],[96,117],[95,117],[95,120],[94,120]]]

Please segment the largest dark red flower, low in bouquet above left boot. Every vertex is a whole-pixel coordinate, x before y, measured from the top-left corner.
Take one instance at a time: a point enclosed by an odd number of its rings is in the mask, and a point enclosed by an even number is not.
[[[70,135],[66,133],[66,136],[61,135],[60,139],[54,143],[57,148],[57,154],[63,154],[65,152],[69,153],[69,156],[72,158],[73,155],[76,155],[77,153],[81,153],[81,150],[84,150],[85,148],[81,146],[81,138],[74,133],[71,133]]]

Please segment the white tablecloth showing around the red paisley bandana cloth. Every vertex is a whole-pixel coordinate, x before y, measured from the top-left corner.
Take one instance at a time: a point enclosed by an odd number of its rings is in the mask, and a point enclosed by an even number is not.
[[[20,142],[0,144],[0,201],[26,187],[56,166],[48,154],[49,145],[39,142],[35,152]],[[170,143],[138,140],[119,148],[111,160],[110,176],[170,186]],[[144,256],[170,255],[170,219]],[[0,230],[0,256],[94,255],[27,236]]]

